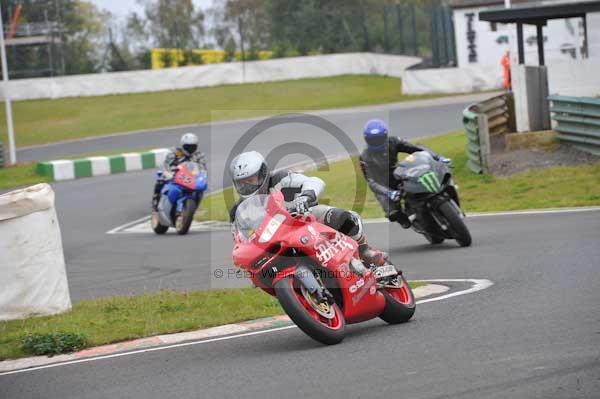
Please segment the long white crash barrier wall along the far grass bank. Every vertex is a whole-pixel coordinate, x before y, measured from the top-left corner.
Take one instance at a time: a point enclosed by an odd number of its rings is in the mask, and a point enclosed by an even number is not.
[[[223,84],[260,83],[338,75],[388,75],[421,62],[418,57],[373,53],[329,54],[278,58],[265,61],[228,62],[159,70],[12,80],[2,98],[33,100],[145,93],[191,89]]]

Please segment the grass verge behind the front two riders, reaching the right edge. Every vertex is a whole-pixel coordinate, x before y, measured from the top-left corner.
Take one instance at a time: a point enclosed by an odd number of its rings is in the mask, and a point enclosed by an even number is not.
[[[475,175],[467,169],[464,132],[457,131],[420,141],[452,158],[454,179],[459,185],[462,208],[468,212],[506,211],[549,207],[600,204],[600,162],[594,165],[560,166],[532,170],[508,177]],[[327,183],[324,202],[351,209],[354,193],[365,193],[361,211],[364,218],[383,217],[379,203],[365,186],[361,174],[355,174],[357,160],[334,163],[329,170],[317,170]],[[223,194],[208,196],[202,203],[198,220],[227,220]]]

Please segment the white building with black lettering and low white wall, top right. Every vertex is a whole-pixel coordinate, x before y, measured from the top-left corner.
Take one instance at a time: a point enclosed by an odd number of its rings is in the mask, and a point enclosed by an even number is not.
[[[536,24],[542,31],[542,64],[548,69],[549,94],[600,96],[600,0],[511,3],[506,11],[513,16],[511,21],[522,24],[526,65],[540,65]],[[448,0],[448,4],[452,7],[457,67],[408,70],[403,76],[404,93],[502,88],[502,56],[509,50],[511,64],[519,64],[517,24],[482,21],[480,16],[484,11],[503,12],[504,0]],[[523,19],[530,16],[534,19]]]

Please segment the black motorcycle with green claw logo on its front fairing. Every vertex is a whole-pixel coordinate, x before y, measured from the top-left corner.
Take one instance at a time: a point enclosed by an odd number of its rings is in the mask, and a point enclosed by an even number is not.
[[[471,245],[449,163],[434,159],[427,151],[417,151],[396,165],[394,177],[401,182],[398,206],[403,203],[413,230],[431,244],[454,239],[461,247]]]

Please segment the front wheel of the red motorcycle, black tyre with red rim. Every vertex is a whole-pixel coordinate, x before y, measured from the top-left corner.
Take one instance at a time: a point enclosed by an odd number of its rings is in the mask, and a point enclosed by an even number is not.
[[[299,284],[299,283],[298,283]],[[312,339],[335,345],[344,339],[346,320],[337,304],[328,305],[332,318],[322,316],[305,298],[294,278],[286,277],[275,284],[275,296],[290,319]]]

